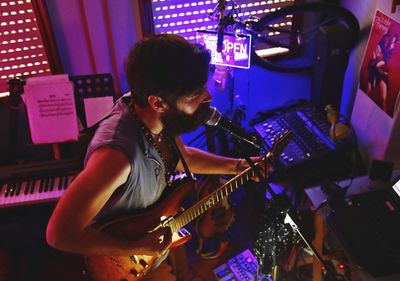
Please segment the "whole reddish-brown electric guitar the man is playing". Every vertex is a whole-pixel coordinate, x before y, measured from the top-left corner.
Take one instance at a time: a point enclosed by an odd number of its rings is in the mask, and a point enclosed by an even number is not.
[[[273,144],[269,155],[280,155],[291,140],[292,133],[286,131]],[[267,157],[268,157],[267,154]],[[255,163],[259,166],[260,163]],[[99,229],[121,239],[140,239],[147,233],[163,226],[169,226],[173,233],[170,248],[179,246],[190,240],[191,234],[184,228],[201,214],[215,206],[241,185],[255,175],[248,167],[233,177],[208,196],[202,198],[189,209],[179,212],[182,201],[193,190],[193,181],[183,181],[170,188],[162,198],[138,214],[117,218],[97,225]],[[131,256],[88,256],[86,268],[95,281],[138,281],[150,270],[157,257],[146,255]]]

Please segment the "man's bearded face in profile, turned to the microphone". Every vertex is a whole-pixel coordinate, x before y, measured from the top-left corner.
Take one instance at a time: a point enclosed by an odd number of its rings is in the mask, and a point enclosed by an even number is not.
[[[175,106],[169,106],[161,115],[164,128],[172,135],[180,135],[196,130],[207,121],[210,93],[203,89],[195,95],[179,98]]]

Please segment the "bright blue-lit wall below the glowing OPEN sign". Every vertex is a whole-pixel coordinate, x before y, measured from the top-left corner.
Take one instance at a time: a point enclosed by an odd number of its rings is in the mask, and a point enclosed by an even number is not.
[[[250,69],[231,69],[226,87],[213,79],[210,72],[208,89],[213,96],[212,105],[222,114],[229,114],[231,109],[241,102],[246,107],[246,119],[243,126],[255,117],[258,112],[276,108],[298,99],[310,99],[310,75],[306,73],[274,72],[253,64]],[[237,100],[239,96],[239,101]],[[196,138],[204,129],[183,136],[186,143]],[[205,145],[203,142],[194,144]]]

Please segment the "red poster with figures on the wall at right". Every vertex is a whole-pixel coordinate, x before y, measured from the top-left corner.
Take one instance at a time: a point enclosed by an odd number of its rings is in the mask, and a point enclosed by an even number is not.
[[[377,10],[361,64],[360,89],[393,117],[400,91],[400,23]]]

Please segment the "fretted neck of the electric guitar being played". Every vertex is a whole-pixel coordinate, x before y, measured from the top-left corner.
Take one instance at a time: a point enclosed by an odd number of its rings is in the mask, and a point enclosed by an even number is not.
[[[258,164],[255,164],[258,165]],[[239,175],[227,181],[224,185],[220,186],[213,193],[204,197],[202,200],[194,204],[183,213],[179,214],[169,223],[172,232],[178,231],[180,228],[199,217],[205,211],[213,207],[215,204],[220,202],[223,198],[238,189],[241,185],[248,182],[252,176],[254,176],[254,170],[249,167]]]

